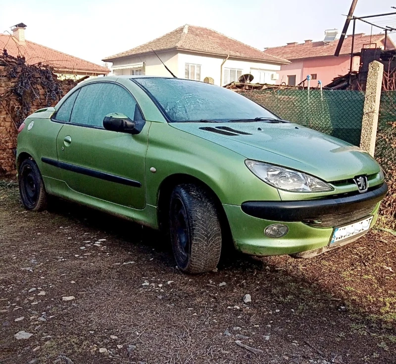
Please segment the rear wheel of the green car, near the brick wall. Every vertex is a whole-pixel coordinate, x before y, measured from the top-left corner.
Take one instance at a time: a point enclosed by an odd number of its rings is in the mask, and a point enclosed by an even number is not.
[[[33,159],[25,159],[18,171],[19,193],[23,205],[30,211],[43,211],[47,207],[47,192],[39,167]]]

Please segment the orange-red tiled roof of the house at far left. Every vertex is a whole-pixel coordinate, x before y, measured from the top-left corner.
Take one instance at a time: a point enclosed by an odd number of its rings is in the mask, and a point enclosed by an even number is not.
[[[98,64],[84,61],[37,43],[30,41],[19,43],[15,37],[7,34],[0,34],[0,50],[2,51],[3,49],[6,49],[10,56],[25,56],[26,62],[29,64],[38,62],[49,64],[58,72],[84,71],[88,74],[107,74],[110,72],[109,69]]]

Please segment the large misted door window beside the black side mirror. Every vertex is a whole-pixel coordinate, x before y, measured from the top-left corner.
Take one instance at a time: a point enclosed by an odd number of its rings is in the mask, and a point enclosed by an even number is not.
[[[103,118],[110,113],[122,113],[134,120],[137,103],[123,87],[98,82],[80,89],[70,122],[103,127]]]

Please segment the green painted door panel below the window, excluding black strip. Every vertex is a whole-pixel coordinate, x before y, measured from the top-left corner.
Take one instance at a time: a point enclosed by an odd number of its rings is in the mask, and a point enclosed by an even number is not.
[[[56,145],[60,162],[85,167],[135,180],[142,187],[131,187],[62,170],[62,180],[77,192],[112,201],[119,205],[145,207],[145,157],[148,147],[147,122],[137,135],[118,133],[99,128],[64,124]],[[71,137],[71,143],[65,137]]]

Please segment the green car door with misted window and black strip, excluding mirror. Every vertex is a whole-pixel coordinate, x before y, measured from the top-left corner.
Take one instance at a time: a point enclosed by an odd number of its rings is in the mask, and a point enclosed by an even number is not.
[[[110,113],[143,119],[132,94],[119,84],[92,82],[78,90],[70,121],[56,140],[58,166],[71,189],[143,209],[149,125],[137,135],[105,130],[103,118]]]

